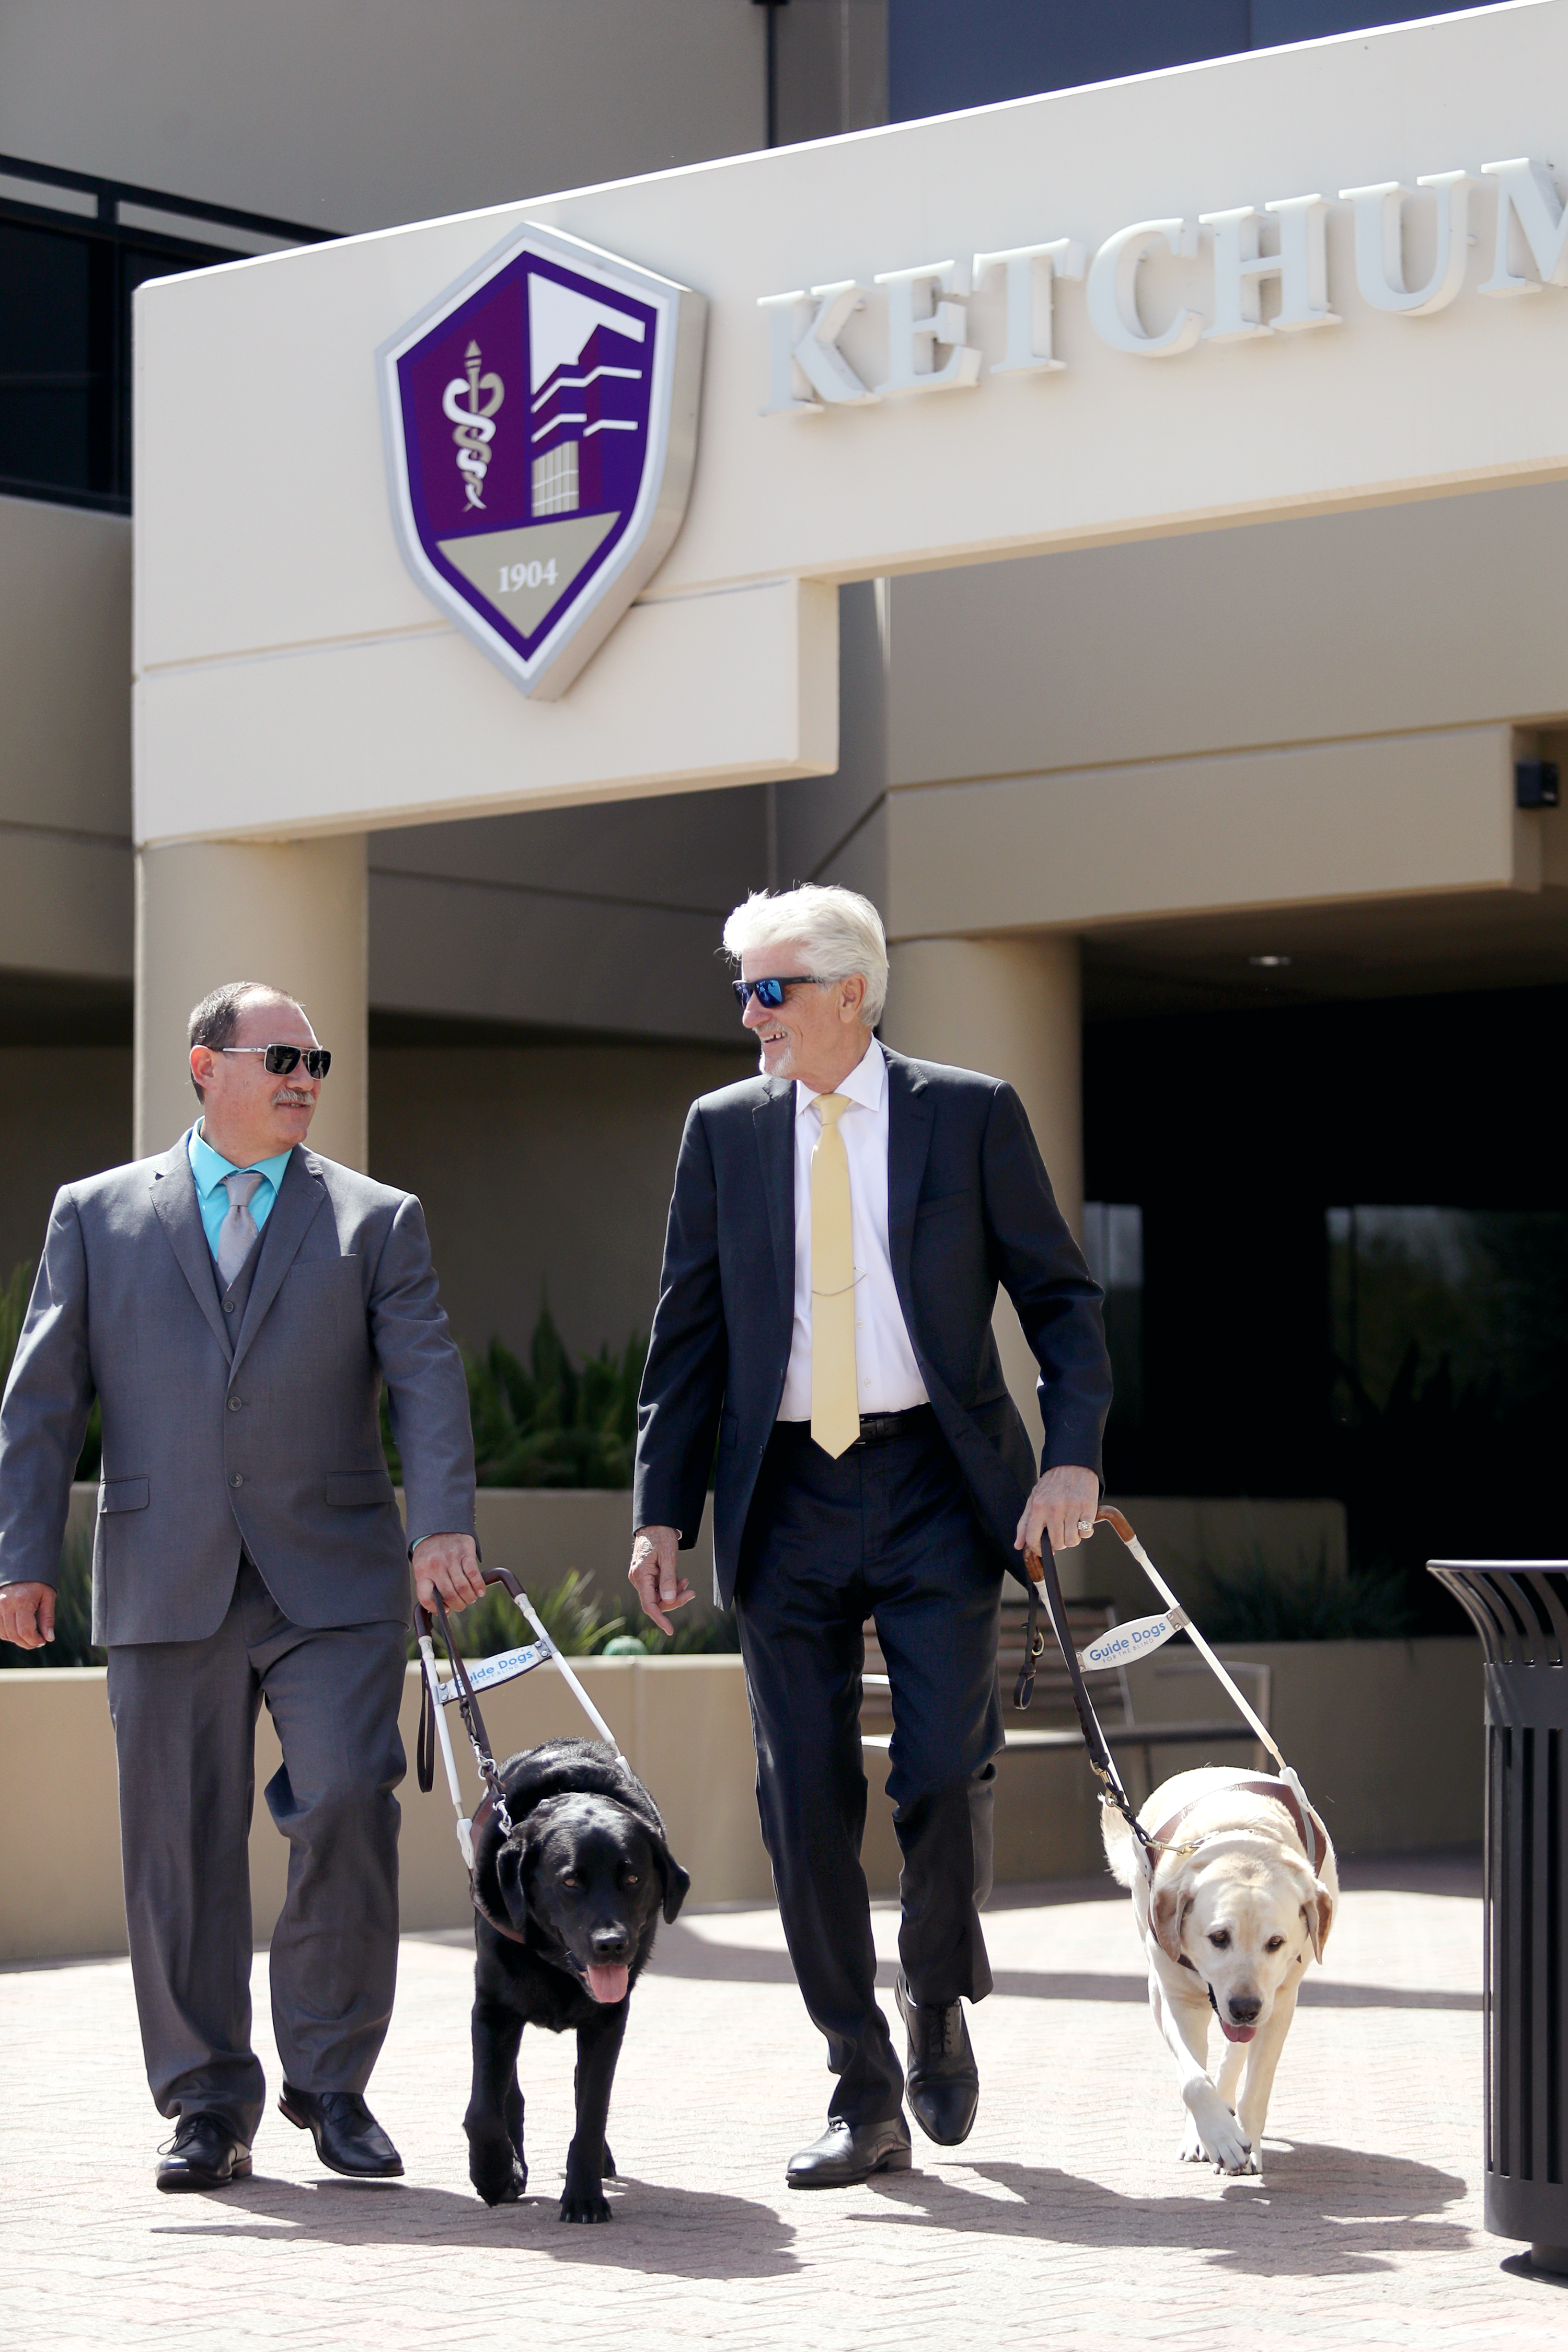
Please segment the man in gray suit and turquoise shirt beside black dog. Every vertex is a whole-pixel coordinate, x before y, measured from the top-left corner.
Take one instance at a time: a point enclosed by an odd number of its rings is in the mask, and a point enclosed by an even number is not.
[[[165,2190],[252,2169],[247,1837],[266,1700],[289,1839],[280,2107],[334,2171],[402,2171],[364,2105],[397,1976],[397,1703],[418,1597],[484,1590],[473,1432],[418,1202],[306,1150],[331,1056],[259,983],[190,1016],[197,1124],[66,1185],[0,1406],[0,1637],[54,1635],[94,1395],[92,1632],[108,1646],[125,1912]],[[407,1536],[378,1430],[390,1392]]]

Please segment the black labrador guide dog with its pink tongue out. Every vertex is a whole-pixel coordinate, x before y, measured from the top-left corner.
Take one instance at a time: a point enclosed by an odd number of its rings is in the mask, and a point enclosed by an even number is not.
[[[484,2204],[529,2185],[517,2044],[524,2025],[576,2027],[576,2133],[562,2220],[609,2220],[609,2091],[632,1985],[658,1915],[675,1919],[691,1879],[642,1780],[597,1740],[548,1740],[501,1766],[512,1835],[487,1818],[475,1842],[473,2098],[468,2178]]]

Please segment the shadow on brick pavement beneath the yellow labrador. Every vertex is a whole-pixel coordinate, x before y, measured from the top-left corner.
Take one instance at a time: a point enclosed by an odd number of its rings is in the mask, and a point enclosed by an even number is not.
[[[954,2178],[964,2171],[992,2183],[992,2192],[966,2187]],[[1171,2171],[1178,2173],[1175,2150]],[[1098,2180],[1030,2164],[886,2173],[870,2185],[882,2218],[900,2227],[1206,2253],[1215,2267],[1253,2277],[1392,2270],[1396,2256],[1455,2253],[1472,2241],[1462,2223],[1432,2218],[1465,2197],[1465,2183],[1408,2157],[1300,2143],[1269,2147],[1262,2180],[1220,2185],[1197,2171],[1190,2178],[1194,2190],[1218,2194],[1182,2194],[1173,2185],[1168,2197],[1124,2197]]]

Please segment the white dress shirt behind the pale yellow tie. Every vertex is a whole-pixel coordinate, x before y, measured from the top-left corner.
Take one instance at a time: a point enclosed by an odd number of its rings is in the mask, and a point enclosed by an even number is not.
[[[929,1404],[905,1329],[886,1221],[889,1075],[872,1037],[849,1077],[839,1115],[849,1160],[849,1221],[856,1261],[856,1383],[863,1414],[903,1414]],[[811,1421],[811,1152],[823,1131],[816,1094],[795,1080],[795,1341],[778,1404],[780,1421]]]

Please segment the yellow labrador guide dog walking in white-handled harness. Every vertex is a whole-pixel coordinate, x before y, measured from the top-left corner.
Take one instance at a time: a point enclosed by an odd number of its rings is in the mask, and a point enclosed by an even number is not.
[[[1150,1955],[1150,2009],[1187,2103],[1182,2164],[1262,2171],[1262,2124],[1307,1962],[1340,1900],[1328,1830],[1284,1780],[1206,1766],[1154,1790],[1140,1823],[1161,1849],[1154,1884],[1133,1832],[1103,1816],[1112,1875],[1131,1889]],[[1208,2072],[1208,2027],[1225,2056]],[[1246,2082],[1237,2098],[1241,2067]]]

